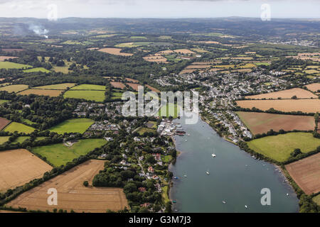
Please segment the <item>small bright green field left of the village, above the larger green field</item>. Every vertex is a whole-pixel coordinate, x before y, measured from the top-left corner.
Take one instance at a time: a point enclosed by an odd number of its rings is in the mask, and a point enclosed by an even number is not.
[[[73,118],[49,128],[49,131],[58,134],[84,133],[94,122],[95,121],[88,118]]]

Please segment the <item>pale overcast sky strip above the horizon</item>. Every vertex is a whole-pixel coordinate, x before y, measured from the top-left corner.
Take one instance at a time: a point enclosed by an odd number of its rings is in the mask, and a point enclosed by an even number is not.
[[[0,0],[0,17],[260,18],[268,9],[271,19],[320,18],[320,0]]]

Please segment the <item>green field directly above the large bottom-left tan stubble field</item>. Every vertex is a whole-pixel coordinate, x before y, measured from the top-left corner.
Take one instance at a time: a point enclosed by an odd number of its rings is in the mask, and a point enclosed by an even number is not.
[[[100,148],[106,143],[107,141],[103,139],[85,139],[78,140],[78,142],[71,147],[68,147],[63,143],[58,143],[36,147],[33,148],[32,151],[46,157],[51,164],[58,167],[67,164],[67,162],[71,162],[76,157],[80,157],[80,155],[86,155],[95,148]]]

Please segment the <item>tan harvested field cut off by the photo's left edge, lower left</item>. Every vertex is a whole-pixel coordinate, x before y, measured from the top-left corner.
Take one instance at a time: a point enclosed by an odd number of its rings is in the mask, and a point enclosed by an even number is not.
[[[52,169],[50,165],[25,149],[0,152],[0,192],[23,186],[41,178]]]

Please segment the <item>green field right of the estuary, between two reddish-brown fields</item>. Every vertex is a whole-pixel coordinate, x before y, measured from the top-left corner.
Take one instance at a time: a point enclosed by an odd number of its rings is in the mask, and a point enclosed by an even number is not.
[[[287,133],[251,140],[247,145],[257,153],[283,162],[296,148],[300,148],[302,153],[315,150],[320,145],[320,139],[314,138],[311,133]]]

